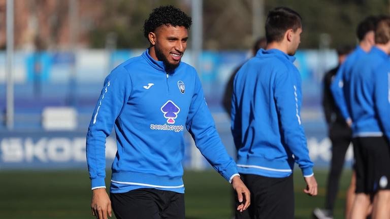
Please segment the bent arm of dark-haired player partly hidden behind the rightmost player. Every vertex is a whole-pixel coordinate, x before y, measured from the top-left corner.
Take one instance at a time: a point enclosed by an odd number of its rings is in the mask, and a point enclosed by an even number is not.
[[[335,100],[335,103],[337,107],[339,107],[341,115],[344,117],[345,122],[351,126],[352,120],[351,116],[349,115],[347,104],[344,97],[344,90],[343,90],[343,75],[345,71],[345,64],[341,65],[339,70],[337,71],[336,76],[333,79],[333,82],[331,84],[331,91],[333,94],[333,98]]]

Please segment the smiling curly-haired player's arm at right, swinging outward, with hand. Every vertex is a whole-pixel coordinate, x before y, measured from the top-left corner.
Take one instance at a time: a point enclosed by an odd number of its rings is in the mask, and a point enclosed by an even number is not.
[[[219,138],[214,120],[203,95],[202,85],[196,72],[194,72],[194,75],[195,86],[186,128],[207,161],[219,174],[232,183],[233,188],[238,193],[239,200],[243,200],[243,195],[245,196],[245,203],[238,208],[240,211],[245,210],[250,204],[249,190],[239,178],[236,163],[228,155]]]

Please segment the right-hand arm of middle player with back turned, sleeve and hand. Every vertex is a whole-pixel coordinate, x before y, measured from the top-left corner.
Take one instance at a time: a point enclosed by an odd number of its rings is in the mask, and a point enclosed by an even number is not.
[[[299,74],[299,73],[298,73]],[[274,98],[281,125],[284,144],[294,154],[295,161],[308,183],[305,193],[317,195],[317,183],[313,173],[313,162],[309,157],[306,136],[301,124],[301,86],[295,72],[276,72]]]

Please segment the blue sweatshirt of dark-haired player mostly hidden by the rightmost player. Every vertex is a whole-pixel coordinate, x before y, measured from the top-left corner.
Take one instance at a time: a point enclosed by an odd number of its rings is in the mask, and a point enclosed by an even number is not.
[[[347,106],[349,96],[345,95],[345,92],[349,90],[352,67],[364,55],[367,55],[367,53],[360,46],[357,46],[340,66],[331,85],[333,98],[345,120],[351,120],[350,109]]]

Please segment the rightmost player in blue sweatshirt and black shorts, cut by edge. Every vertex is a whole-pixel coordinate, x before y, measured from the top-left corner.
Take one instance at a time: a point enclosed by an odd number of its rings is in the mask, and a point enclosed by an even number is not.
[[[371,218],[390,216],[390,79],[385,67],[388,66],[389,53],[390,17],[382,16],[376,23],[375,46],[356,60],[346,74],[349,80],[343,80],[345,107],[353,121],[356,162],[356,196],[350,218],[366,218],[372,196]]]

